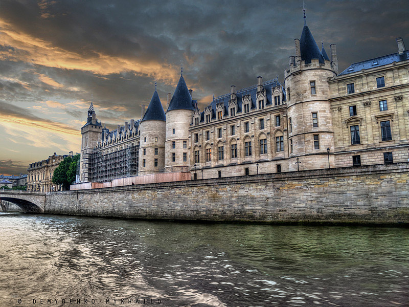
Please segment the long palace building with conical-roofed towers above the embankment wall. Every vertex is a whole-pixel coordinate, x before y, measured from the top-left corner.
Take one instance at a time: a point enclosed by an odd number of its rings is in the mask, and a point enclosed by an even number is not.
[[[304,16],[305,18],[305,16]],[[305,19],[304,19],[305,20]],[[200,110],[183,77],[166,111],[156,92],[140,120],[109,130],[93,103],[81,128],[81,182],[162,172],[191,179],[408,161],[409,52],[338,72],[335,44],[317,46],[304,21],[284,81],[215,97]],[[256,78],[255,78],[256,79]],[[187,80],[189,81],[189,80]]]

